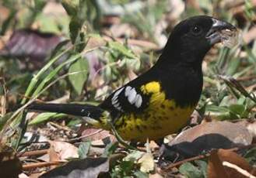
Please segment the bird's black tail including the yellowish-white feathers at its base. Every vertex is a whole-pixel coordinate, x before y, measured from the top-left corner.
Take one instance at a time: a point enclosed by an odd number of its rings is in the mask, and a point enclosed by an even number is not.
[[[89,104],[40,104],[33,103],[27,107],[33,111],[47,111],[64,113],[67,115],[81,116],[90,125],[99,128],[108,127],[107,121],[110,117],[108,111],[103,110],[98,106]]]

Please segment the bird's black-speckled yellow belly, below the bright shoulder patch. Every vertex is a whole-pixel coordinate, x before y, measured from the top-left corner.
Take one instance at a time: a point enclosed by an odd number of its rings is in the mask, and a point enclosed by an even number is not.
[[[151,108],[139,115],[124,115],[122,126],[117,132],[124,140],[146,141],[161,139],[177,132],[188,123],[194,107],[170,107],[172,101],[165,101],[156,108]]]

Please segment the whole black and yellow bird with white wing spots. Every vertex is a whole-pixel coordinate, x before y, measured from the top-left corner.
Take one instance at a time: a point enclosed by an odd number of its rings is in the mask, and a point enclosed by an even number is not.
[[[228,22],[199,15],[174,27],[156,64],[97,106],[31,104],[29,109],[77,115],[96,128],[112,123],[125,140],[157,140],[188,123],[202,93],[202,60],[219,43]]]

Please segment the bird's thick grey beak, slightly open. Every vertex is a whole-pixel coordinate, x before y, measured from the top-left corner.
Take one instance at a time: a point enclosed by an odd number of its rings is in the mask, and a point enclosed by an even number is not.
[[[223,22],[217,19],[212,18],[212,28],[209,29],[209,32],[206,34],[206,39],[209,39],[209,43],[214,45],[220,43],[224,36],[224,33],[236,33],[237,28],[231,25],[228,22]]]

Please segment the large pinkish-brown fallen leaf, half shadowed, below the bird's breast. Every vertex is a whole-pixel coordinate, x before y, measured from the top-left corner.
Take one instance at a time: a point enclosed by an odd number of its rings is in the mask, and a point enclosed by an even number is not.
[[[231,122],[205,122],[181,132],[167,145],[162,145],[160,157],[178,161],[212,149],[231,149],[237,145],[249,145],[251,142],[252,135],[243,125]]]

